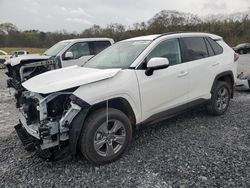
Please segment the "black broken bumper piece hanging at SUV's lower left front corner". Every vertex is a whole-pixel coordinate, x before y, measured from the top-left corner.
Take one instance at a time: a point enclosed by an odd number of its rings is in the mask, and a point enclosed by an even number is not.
[[[34,139],[29,135],[26,129],[21,124],[18,124],[15,126],[15,130],[22,144],[24,145],[25,150],[28,152],[35,151],[36,147],[34,144]]]

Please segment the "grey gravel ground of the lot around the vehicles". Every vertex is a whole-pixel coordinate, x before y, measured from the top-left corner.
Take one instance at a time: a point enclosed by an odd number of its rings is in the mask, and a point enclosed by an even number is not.
[[[142,128],[120,160],[94,167],[80,155],[46,162],[24,151],[5,82],[0,71],[0,187],[250,187],[250,93],[236,92],[221,117],[200,108]]]

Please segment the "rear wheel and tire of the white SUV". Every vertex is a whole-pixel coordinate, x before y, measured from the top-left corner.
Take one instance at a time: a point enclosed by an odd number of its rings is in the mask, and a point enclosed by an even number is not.
[[[231,98],[231,87],[227,82],[218,81],[212,91],[212,97],[207,106],[208,112],[212,115],[223,115],[229,106]]]

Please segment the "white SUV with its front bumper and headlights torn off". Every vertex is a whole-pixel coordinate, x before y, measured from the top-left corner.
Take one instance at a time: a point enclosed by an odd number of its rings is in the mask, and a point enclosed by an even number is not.
[[[199,104],[222,115],[233,97],[237,56],[219,36],[167,33],[116,43],[83,67],[23,83],[20,124],[27,150],[57,158],[77,148],[91,162],[116,160],[139,124]],[[46,151],[46,152],[45,152]],[[45,153],[45,154],[44,154]]]

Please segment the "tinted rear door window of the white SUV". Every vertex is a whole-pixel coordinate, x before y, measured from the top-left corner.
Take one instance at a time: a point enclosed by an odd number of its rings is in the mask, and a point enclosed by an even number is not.
[[[182,41],[185,47],[185,61],[194,61],[208,57],[203,37],[186,37]]]

